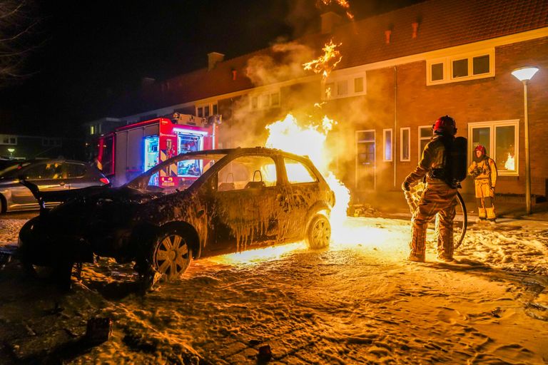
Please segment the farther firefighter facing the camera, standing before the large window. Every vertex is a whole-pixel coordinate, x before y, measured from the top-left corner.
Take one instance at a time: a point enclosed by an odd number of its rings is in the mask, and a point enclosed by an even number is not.
[[[494,223],[497,215],[494,212],[494,185],[497,184],[497,165],[487,156],[484,146],[477,145],[472,156],[472,165],[468,173],[474,178],[478,220]]]

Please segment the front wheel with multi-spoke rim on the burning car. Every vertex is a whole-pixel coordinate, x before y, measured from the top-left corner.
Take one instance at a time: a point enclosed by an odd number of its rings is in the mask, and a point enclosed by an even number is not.
[[[191,264],[192,250],[188,240],[179,230],[163,232],[156,240],[153,268],[160,279],[171,281],[181,277]]]

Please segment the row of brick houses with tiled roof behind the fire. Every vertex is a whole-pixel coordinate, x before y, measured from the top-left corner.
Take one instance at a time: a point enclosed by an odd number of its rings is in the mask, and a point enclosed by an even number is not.
[[[524,195],[524,90],[511,72],[536,66],[528,83],[532,194],[547,196],[547,1],[430,0],[361,21],[322,18],[320,33],[285,45],[229,60],[210,53],[207,68],[143,86],[113,115],[132,123],[219,113],[221,144],[233,147],[258,145],[265,125],[289,111],[325,113],[339,122],[328,140],[338,175],[359,195],[400,189],[432,123],[448,114],[468,138],[469,160],[475,145],[487,146],[499,168],[497,193]],[[323,82],[302,63],[330,39],[341,43],[342,61]]]

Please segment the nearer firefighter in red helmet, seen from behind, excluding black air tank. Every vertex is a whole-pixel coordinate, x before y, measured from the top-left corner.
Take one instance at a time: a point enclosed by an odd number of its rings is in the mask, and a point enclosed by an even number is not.
[[[425,145],[422,158],[415,171],[407,175],[402,189],[426,180],[425,191],[412,215],[411,261],[425,262],[426,230],[428,222],[437,215],[437,258],[450,262],[453,260],[453,220],[457,205],[457,187],[446,183],[447,154],[446,149],[455,140],[457,126],[455,120],[445,115],[436,120],[432,126],[434,137]]]

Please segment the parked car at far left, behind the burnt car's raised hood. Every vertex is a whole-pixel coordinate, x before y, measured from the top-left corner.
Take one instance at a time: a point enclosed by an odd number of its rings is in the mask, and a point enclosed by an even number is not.
[[[73,160],[11,161],[0,170],[0,212],[38,209],[31,191],[19,183],[28,180],[41,192],[106,185],[108,179],[96,167]],[[47,202],[53,206],[59,202]]]

